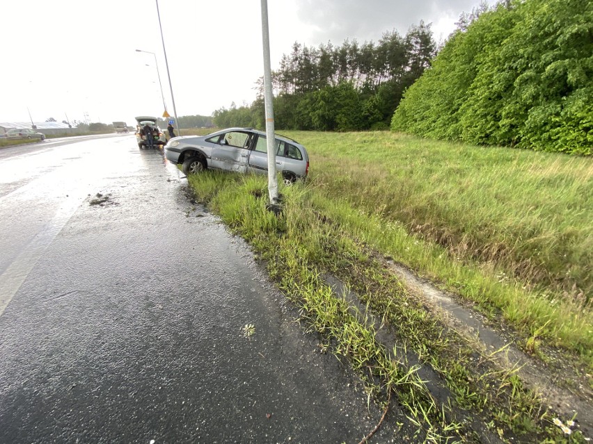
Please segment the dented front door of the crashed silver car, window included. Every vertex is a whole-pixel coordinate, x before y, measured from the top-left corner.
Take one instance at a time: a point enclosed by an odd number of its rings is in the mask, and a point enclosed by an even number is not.
[[[251,140],[252,134],[248,131],[228,131],[219,135],[212,147],[210,165],[219,170],[246,172]]]

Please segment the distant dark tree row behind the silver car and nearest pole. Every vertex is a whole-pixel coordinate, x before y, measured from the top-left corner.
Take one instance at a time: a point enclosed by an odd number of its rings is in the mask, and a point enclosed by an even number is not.
[[[278,129],[358,131],[388,129],[404,90],[436,54],[429,24],[405,36],[384,33],[376,44],[345,40],[339,46],[307,47],[295,42],[272,72],[274,122]],[[216,126],[264,128],[264,86],[260,78],[251,105],[214,111]]]

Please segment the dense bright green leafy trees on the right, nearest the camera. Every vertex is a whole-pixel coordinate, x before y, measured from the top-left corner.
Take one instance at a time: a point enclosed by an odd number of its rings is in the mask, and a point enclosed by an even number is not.
[[[391,129],[593,153],[593,3],[513,0],[459,29],[405,92]]]

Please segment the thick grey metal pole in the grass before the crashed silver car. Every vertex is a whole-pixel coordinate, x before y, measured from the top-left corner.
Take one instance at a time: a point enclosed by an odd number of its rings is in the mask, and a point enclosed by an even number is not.
[[[272,209],[278,207],[278,178],[276,177],[276,140],[274,135],[274,96],[271,88],[270,37],[268,2],[262,0],[262,42],[264,46],[264,102],[266,106],[266,138],[268,147],[268,194]]]

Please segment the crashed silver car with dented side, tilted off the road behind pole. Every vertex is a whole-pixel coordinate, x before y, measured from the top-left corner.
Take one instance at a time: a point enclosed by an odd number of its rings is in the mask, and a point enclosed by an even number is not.
[[[305,179],[309,156],[303,145],[276,134],[276,168],[285,183]],[[165,145],[167,160],[182,165],[184,174],[207,168],[233,172],[267,174],[267,138],[253,128],[229,128],[203,136],[175,137]]]

